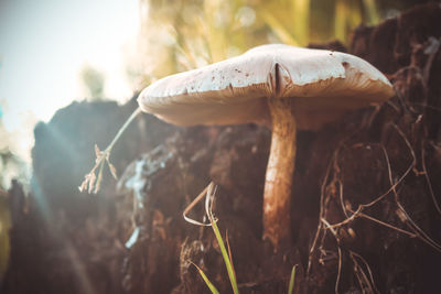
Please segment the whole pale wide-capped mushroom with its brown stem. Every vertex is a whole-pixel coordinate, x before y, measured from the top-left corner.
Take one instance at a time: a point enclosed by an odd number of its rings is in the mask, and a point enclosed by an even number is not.
[[[318,130],[347,110],[394,96],[387,78],[356,56],[262,45],[198,69],[162,78],[140,108],[178,126],[255,122],[272,129],[263,192],[263,239],[290,243],[297,130]]]

